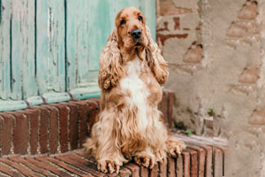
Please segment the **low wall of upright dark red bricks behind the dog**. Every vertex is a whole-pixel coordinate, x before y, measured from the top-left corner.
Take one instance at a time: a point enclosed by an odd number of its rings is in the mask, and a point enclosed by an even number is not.
[[[159,109],[168,126],[173,103],[173,92],[164,90]],[[98,109],[98,99],[92,98],[0,112],[0,157],[76,150],[89,135]]]

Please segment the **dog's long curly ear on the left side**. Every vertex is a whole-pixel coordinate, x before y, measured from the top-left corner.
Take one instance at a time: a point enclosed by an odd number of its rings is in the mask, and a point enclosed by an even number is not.
[[[117,44],[117,27],[111,32],[100,58],[98,84],[103,89],[111,89],[117,85],[117,81],[124,75],[122,58]]]

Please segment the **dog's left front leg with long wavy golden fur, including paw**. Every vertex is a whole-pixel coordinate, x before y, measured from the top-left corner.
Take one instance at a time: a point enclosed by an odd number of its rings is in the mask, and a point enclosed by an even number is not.
[[[115,112],[104,110],[92,127],[91,138],[84,144],[85,150],[92,150],[97,160],[98,170],[103,173],[118,173],[127,160],[118,147],[117,120]]]

